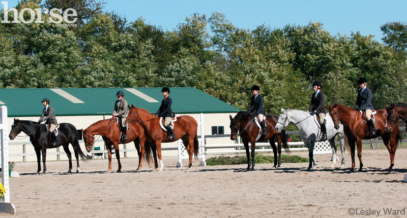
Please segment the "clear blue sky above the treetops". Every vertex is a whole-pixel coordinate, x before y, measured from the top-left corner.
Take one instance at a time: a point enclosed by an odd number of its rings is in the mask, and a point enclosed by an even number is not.
[[[5,0],[3,0],[5,1]],[[7,1],[14,7],[18,1]],[[322,22],[331,35],[350,35],[360,31],[373,34],[382,42],[380,26],[391,21],[407,21],[407,1],[131,1],[105,0],[105,11],[115,11],[129,21],[138,17],[146,23],[173,30],[186,16],[193,13],[224,13],[239,28],[254,29],[266,24],[272,28],[286,24],[307,25],[310,21]],[[3,5],[1,5],[3,7]]]

